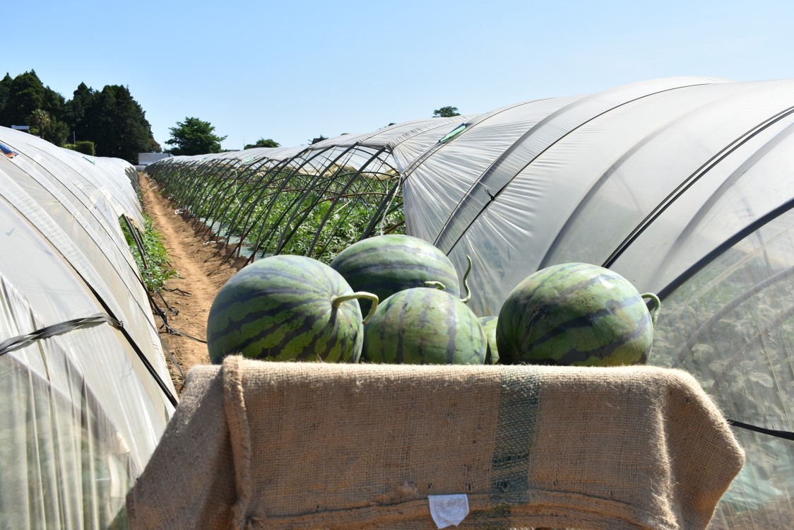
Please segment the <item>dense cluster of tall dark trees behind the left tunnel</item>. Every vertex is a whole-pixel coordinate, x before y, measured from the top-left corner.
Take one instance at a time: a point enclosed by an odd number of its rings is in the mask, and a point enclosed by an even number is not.
[[[80,83],[71,99],[44,86],[34,70],[0,79],[0,126],[29,126],[30,133],[60,147],[137,164],[138,153],[160,153],[145,112],[129,88],[101,91]]]

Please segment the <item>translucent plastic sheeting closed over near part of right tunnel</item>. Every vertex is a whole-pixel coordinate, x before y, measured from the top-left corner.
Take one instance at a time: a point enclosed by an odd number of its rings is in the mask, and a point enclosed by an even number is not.
[[[658,79],[514,106],[403,175],[408,232],[459,271],[472,257],[479,315],[567,261],[659,292],[651,362],[691,371],[727,417],[790,433],[792,132],[794,80]],[[736,430],[748,463],[713,526],[783,528],[794,445]]]

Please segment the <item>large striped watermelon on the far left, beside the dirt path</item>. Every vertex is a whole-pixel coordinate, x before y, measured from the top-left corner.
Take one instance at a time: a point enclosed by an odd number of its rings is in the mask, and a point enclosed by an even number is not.
[[[358,362],[364,325],[339,273],[305,256],[277,255],[241,269],[218,292],[207,319],[210,361],[229,354],[272,361]]]

